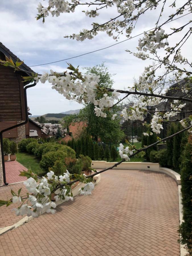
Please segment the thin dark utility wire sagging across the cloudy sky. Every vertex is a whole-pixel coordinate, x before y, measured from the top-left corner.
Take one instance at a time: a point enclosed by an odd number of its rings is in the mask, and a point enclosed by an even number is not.
[[[172,22],[172,21],[177,20],[177,19],[179,19],[179,18],[182,18],[182,17],[184,17],[184,16],[186,16],[186,15],[188,15],[188,14],[190,14],[190,13],[186,13],[186,14],[183,15],[183,16],[180,16],[180,17],[178,17],[178,18],[176,18],[176,19],[170,20],[170,21],[166,22],[165,24],[168,24],[169,22]],[[164,24],[164,25],[165,25],[165,24]],[[161,26],[161,25],[160,25],[160,26]],[[159,28],[160,26],[158,26],[157,28]],[[149,30],[147,30],[147,31],[145,31],[145,32],[149,32],[150,30],[153,30],[153,29],[155,29],[155,28],[151,28],[151,29],[149,29]],[[118,43],[116,43],[116,44],[112,44],[112,45],[110,45],[110,46],[107,46],[107,47],[104,47],[104,48],[101,48],[101,49],[98,49],[98,50],[95,50],[95,51],[90,51],[90,52],[87,52],[87,53],[83,53],[83,54],[80,54],[80,55],[77,55],[77,56],[74,56],[74,57],[71,57],[71,58],[68,58],[68,59],[74,59],[74,58],[81,57],[81,56],[84,56],[84,55],[87,55],[87,54],[90,54],[90,53],[94,53],[94,52],[96,52],[96,51],[101,51],[101,50],[104,50],[104,49],[108,49],[108,48],[110,48],[110,47],[112,47],[112,46],[115,46],[115,45],[117,45],[117,44],[121,44],[121,43],[123,43],[123,42],[125,42],[125,41],[127,41],[127,40],[130,40],[130,39],[132,39],[132,38],[135,38],[135,37],[137,37],[137,36],[141,36],[142,34],[144,34],[144,32],[141,33],[141,34],[138,34],[138,35],[136,35],[136,36],[133,36],[133,37],[131,37],[131,38],[125,39],[125,40],[123,40],[123,41],[121,41],[121,42],[118,42]],[[37,66],[42,66],[42,65],[48,65],[48,64],[52,64],[52,63],[57,63],[57,62],[65,61],[65,60],[68,60],[68,59],[61,59],[61,60],[59,60],[59,61],[53,61],[53,62],[49,62],[49,63],[33,65],[33,66],[29,66],[29,67],[37,67]]]

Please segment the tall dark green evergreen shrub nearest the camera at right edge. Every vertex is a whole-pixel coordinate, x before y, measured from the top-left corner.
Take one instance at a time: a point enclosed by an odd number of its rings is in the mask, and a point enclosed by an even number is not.
[[[183,151],[181,163],[181,193],[183,204],[183,220],[180,225],[181,242],[187,244],[189,251],[192,251],[192,142],[188,142]],[[192,255],[192,254],[189,254]]]

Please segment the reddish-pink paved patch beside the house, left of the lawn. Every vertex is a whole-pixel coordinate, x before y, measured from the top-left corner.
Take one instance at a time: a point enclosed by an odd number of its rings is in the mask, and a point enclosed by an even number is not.
[[[7,183],[15,183],[19,181],[25,181],[26,177],[18,176],[20,174],[19,171],[25,170],[27,168],[24,167],[17,161],[6,161],[5,162],[5,173],[6,173],[6,181]]]

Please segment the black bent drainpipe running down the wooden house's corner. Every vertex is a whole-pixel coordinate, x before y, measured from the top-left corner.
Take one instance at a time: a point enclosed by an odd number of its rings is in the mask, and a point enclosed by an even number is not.
[[[27,111],[27,92],[26,92],[26,90],[27,90],[28,88],[30,88],[30,87],[35,86],[35,85],[36,85],[36,82],[34,82],[34,84],[27,85],[27,86],[25,86],[25,88],[24,88],[24,98],[25,98],[25,121],[24,121],[23,123],[18,123],[18,124],[14,125],[14,126],[11,126],[11,127],[9,127],[9,128],[6,128],[6,129],[0,131],[1,154],[2,154],[2,167],[3,167],[3,182],[4,182],[4,184],[5,184],[6,186],[8,185],[8,183],[6,182],[6,174],[5,174],[5,160],[4,160],[4,151],[3,151],[3,132],[9,131],[9,130],[11,130],[11,129],[13,129],[13,128],[16,128],[16,127],[18,127],[18,126],[21,126],[21,125],[25,125],[25,124],[28,122],[29,118],[28,118],[28,111]]]

